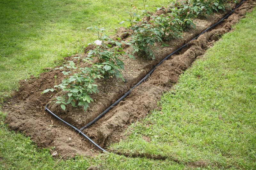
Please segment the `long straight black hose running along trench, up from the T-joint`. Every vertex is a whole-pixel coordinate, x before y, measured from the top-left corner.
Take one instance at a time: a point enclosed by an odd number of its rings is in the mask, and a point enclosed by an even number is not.
[[[229,15],[231,15],[236,8],[238,8],[240,5],[242,5],[244,3],[245,0],[243,0],[242,2],[240,2],[240,4],[238,4],[230,13],[228,13],[224,18],[222,18],[219,22],[213,24],[212,26],[210,26],[209,28],[207,28],[206,30],[204,30],[202,33],[200,33],[199,35],[197,35],[195,38],[193,38],[192,40],[190,40],[189,42],[197,39],[200,35],[202,35],[203,33],[205,33],[206,31],[212,29],[213,27],[215,27],[216,25],[220,24],[224,19],[228,18]],[[188,42],[188,43],[189,43]],[[160,64],[162,64],[162,62],[164,62],[164,60],[168,59],[169,57],[171,57],[173,54],[177,53],[178,51],[180,51],[182,48],[184,48],[185,46],[188,45],[185,44],[183,46],[181,46],[180,48],[178,48],[177,50],[175,50],[174,52],[172,52],[171,54],[167,55],[163,60],[161,60],[142,80],[140,80],[136,85],[134,85],[129,91],[127,91],[122,97],[120,97],[115,103],[113,103],[111,106],[109,106],[106,110],[104,110],[99,116],[97,116],[95,119],[93,119],[91,122],[89,122],[88,124],[86,124],[84,127],[80,128],[80,131],[83,131],[85,128],[89,127],[91,124],[93,124],[94,122],[96,122],[98,119],[100,119],[100,117],[102,117],[103,115],[105,115],[109,110],[111,110],[114,106],[116,106],[116,104],[118,104],[119,102],[121,102],[126,96],[128,96],[132,90],[134,88],[136,88],[137,86],[139,86],[143,81],[145,81],[150,74],[152,74],[156,67],[158,67]]]

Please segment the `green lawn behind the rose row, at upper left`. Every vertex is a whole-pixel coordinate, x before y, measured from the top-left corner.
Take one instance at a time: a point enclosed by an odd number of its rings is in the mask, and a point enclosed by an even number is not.
[[[148,10],[167,3],[148,0]],[[129,18],[130,4],[143,6],[142,0],[0,0],[0,98],[17,90],[19,80],[81,53],[96,39],[87,27],[105,27],[113,35],[115,28],[127,26],[128,21],[119,23]]]

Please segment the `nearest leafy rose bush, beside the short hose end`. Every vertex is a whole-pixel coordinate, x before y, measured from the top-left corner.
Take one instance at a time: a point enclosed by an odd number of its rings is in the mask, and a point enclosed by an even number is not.
[[[80,57],[77,57],[80,61]],[[83,58],[83,62],[88,62],[90,58]],[[46,89],[43,93],[48,91],[58,91],[61,89],[63,96],[58,96],[56,103],[61,103],[61,108],[65,110],[66,104],[71,103],[73,107],[82,106],[84,110],[87,109],[89,103],[93,100],[90,94],[97,93],[97,85],[93,84],[95,79],[100,79],[103,76],[100,75],[100,66],[94,64],[92,67],[80,67],[79,62],[77,65],[73,61],[70,61],[68,65],[58,68],[62,71],[66,78],[62,80],[59,85],[55,85],[54,89]]]

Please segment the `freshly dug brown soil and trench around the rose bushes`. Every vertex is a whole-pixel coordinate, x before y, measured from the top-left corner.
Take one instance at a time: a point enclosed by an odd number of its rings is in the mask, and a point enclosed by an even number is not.
[[[252,11],[255,5],[253,0],[245,1],[220,25],[190,42],[179,54],[165,60],[150,75],[150,78],[132,90],[129,96],[83,132],[102,147],[107,147],[111,143],[124,139],[126,137],[124,131],[127,127],[155,109],[157,100],[160,99],[164,91],[172,88],[172,85],[179,80],[179,75],[196,58],[203,56],[204,52],[219,40],[222,34],[229,32],[232,25],[243,18],[246,12]],[[135,56],[136,60],[131,60],[125,57],[123,76],[126,82],[115,78],[99,81],[100,93],[93,96],[95,102],[90,105],[86,112],[82,109],[74,109],[72,106],[63,111],[56,104],[52,104],[49,109],[78,128],[84,126],[140,81],[166,55],[196,37],[223,16],[225,16],[224,13],[196,19],[196,29],[184,32],[182,39],[165,42],[170,46],[161,47],[161,44],[158,44],[158,48],[154,51],[156,60],[147,61],[137,56]],[[128,48],[127,51],[129,52],[129,50],[131,51]],[[55,75],[57,76],[56,80],[54,79]],[[30,136],[31,140],[35,141],[39,147],[51,148],[51,152],[56,151],[58,155],[65,155],[65,157],[73,157],[76,154],[97,155],[99,150],[90,142],[44,111],[44,106],[47,103],[53,103],[58,94],[55,92],[42,95],[41,92],[44,89],[52,88],[56,83],[60,83],[63,78],[60,70],[52,69],[42,73],[39,78],[21,81],[19,91],[7,100],[2,108],[4,112],[8,113],[5,122],[9,124],[11,130],[23,132]],[[166,159],[158,155],[130,155],[111,149],[109,151],[132,157]]]

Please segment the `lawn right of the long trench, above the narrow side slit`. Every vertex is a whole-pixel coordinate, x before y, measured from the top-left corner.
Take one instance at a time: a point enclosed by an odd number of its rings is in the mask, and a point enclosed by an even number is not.
[[[210,169],[255,169],[255,21],[254,10],[180,76],[161,111],[132,125],[130,138],[112,148],[183,164],[203,160]]]

